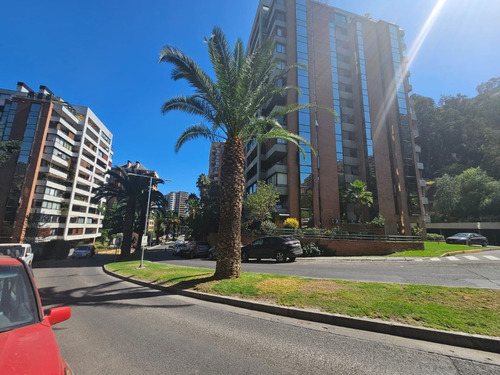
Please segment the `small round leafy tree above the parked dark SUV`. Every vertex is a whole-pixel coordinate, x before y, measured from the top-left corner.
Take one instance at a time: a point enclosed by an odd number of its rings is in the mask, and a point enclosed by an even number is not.
[[[253,220],[263,223],[271,218],[271,212],[276,211],[278,202],[279,194],[276,187],[258,181],[255,192],[246,196],[245,210]]]

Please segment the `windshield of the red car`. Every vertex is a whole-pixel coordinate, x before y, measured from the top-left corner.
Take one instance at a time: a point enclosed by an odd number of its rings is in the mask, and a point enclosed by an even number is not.
[[[21,265],[0,265],[0,332],[34,324],[38,309],[28,275]]]

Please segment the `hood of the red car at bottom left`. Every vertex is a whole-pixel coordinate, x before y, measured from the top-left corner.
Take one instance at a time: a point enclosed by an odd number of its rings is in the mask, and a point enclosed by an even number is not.
[[[57,341],[48,322],[0,333],[0,374],[63,374]]]

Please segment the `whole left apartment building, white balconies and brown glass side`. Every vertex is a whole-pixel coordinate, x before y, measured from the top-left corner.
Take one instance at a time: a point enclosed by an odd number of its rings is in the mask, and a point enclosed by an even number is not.
[[[112,138],[90,108],[45,86],[0,89],[0,140],[22,142],[0,166],[0,241],[99,237],[103,216],[91,191],[107,180]]]

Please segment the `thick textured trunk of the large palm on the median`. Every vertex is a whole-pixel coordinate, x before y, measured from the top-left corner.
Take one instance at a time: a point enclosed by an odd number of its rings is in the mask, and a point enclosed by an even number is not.
[[[245,193],[245,154],[241,139],[228,138],[224,145],[220,189],[220,224],[214,277],[235,279],[241,274],[241,209]]]

